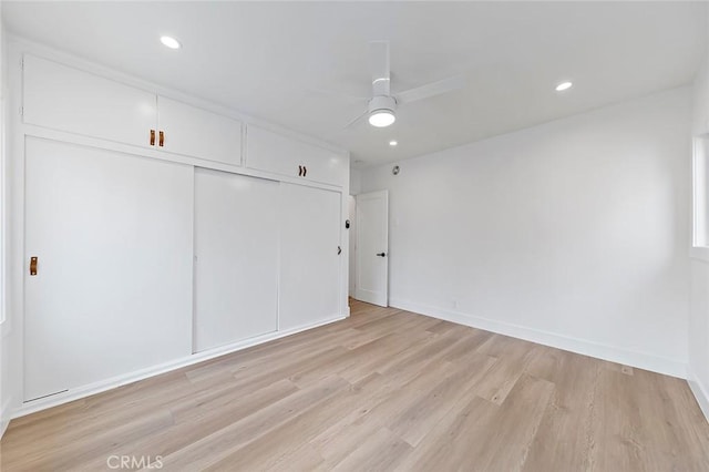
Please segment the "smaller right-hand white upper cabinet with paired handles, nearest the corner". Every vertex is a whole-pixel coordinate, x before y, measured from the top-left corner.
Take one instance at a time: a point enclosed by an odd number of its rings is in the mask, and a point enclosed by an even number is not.
[[[349,178],[347,157],[253,125],[246,131],[246,166],[338,186]]]

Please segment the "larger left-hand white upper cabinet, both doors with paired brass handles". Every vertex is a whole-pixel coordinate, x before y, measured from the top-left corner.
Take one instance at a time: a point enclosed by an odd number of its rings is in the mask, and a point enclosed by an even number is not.
[[[22,62],[24,123],[242,164],[237,120],[43,58]]]

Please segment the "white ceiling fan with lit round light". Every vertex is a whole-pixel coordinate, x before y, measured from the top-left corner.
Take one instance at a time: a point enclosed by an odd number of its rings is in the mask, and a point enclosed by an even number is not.
[[[369,124],[386,127],[397,121],[397,107],[431,96],[440,95],[465,85],[464,75],[454,75],[438,82],[391,94],[391,73],[389,63],[389,41],[370,41],[369,66],[372,78],[372,96],[368,100],[367,110],[349,122],[346,129],[369,115]]]

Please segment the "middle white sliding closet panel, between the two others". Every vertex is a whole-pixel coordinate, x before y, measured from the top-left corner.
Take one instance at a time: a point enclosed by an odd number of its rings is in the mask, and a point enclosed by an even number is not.
[[[278,329],[278,185],[195,170],[195,351]]]

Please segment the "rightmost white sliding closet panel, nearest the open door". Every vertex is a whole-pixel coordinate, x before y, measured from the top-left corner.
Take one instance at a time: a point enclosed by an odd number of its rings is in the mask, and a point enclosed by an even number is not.
[[[279,328],[340,316],[340,198],[338,192],[280,184]]]

